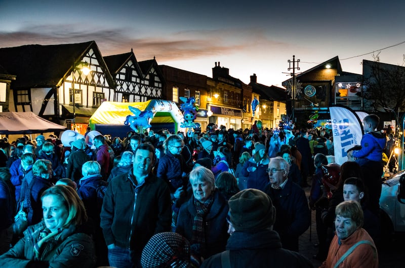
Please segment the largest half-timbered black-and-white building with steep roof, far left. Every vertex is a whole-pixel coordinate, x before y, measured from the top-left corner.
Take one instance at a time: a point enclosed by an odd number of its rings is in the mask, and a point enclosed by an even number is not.
[[[89,64],[90,74],[79,70],[82,62]],[[112,100],[114,82],[94,41],[0,48],[0,64],[17,76],[11,83],[10,111],[57,121],[72,117],[73,91],[77,115],[90,117],[86,109],[97,107],[102,99]]]

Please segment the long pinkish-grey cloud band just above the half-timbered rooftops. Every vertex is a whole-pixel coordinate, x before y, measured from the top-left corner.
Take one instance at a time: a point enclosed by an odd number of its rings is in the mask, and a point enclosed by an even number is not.
[[[227,29],[179,31],[164,37],[148,37],[140,31],[121,29],[90,30],[78,24],[30,25],[14,32],[0,32],[0,47],[25,44],[78,43],[95,40],[103,56],[134,49],[139,59],[156,56],[162,61],[227,55],[258,46],[286,47],[289,44],[268,40],[261,30]],[[76,30],[77,29],[77,30]],[[139,37],[138,37],[139,36]]]

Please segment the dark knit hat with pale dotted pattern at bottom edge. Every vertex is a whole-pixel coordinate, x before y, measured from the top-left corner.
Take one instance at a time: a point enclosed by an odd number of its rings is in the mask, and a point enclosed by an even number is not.
[[[142,251],[142,267],[190,267],[190,243],[172,232],[152,236]]]

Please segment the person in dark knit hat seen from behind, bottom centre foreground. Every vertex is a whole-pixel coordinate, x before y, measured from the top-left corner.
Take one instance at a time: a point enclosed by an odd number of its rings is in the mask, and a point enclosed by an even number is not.
[[[201,268],[313,267],[301,254],[283,249],[273,231],[276,209],[270,197],[257,189],[245,189],[229,201],[229,234],[226,251],[203,262]],[[223,262],[225,261],[225,262]]]

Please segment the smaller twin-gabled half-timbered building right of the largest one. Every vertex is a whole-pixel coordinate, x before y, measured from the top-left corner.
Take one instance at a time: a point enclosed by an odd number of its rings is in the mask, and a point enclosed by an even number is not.
[[[161,98],[163,78],[156,61],[139,62],[134,52],[104,57],[115,80],[114,101],[138,102]]]

